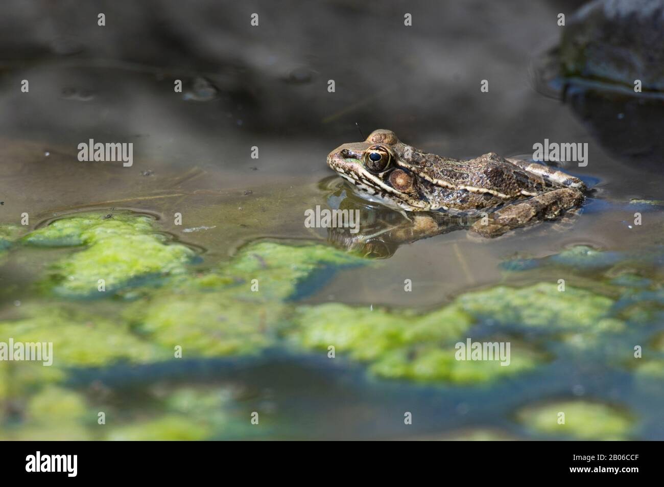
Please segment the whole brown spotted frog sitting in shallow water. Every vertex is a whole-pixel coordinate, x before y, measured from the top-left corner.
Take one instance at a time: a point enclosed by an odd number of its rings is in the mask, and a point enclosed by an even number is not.
[[[337,147],[327,165],[365,199],[402,212],[482,215],[470,230],[487,238],[574,213],[588,190],[554,167],[495,152],[467,160],[441,157],[385,129]]]

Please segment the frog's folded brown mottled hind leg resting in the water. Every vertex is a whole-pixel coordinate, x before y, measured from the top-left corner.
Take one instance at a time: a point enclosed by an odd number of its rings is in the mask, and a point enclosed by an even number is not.
[[[499,237],[510,230],[556,219],[562,213],[579,207],[583,201],[584,195],[578,189],[556,189],[523,203],[503,207],[473,223],[470,230],[489,239]]]

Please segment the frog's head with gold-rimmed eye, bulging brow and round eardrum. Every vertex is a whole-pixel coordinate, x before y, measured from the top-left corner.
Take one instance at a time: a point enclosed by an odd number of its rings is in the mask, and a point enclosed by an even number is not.
[[[428,201],[417,189],[417,176],[401,164],[404,149],[391,130],[374,130],[365,142],[343,144],[331,151],[327,165],[381,203],[408,211],[428,210]]]

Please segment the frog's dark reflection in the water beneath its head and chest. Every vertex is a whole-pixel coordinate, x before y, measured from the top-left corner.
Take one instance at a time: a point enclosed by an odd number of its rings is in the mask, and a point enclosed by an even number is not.
[[[327,229],[329,243],[367,258],[388,258],[402,244],[469,228],[480,217],[440,212],[402,212],[367,201],[337,177],[321,182],[331,209],[359,211],[359,231],[349,227]]]

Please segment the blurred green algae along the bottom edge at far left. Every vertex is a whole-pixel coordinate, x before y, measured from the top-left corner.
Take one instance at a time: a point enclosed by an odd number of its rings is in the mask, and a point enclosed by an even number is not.
[[[0,429],[0,440],[206,440],[252,434],[250,416],[238,416],[230,389],[151,388],[147,397],[149,410],[131,405],[120,413],[117,404],[45,385],[29,397],[20,423]]]

